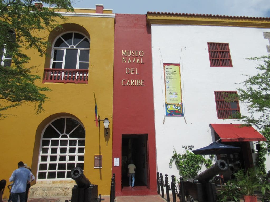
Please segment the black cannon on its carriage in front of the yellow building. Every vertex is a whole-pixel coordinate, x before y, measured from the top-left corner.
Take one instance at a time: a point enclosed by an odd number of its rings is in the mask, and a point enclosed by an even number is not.
[[[71,200],[65,202],[100,202],[104,201],[101,194],[97,197],[97,185],[91,184],[89,179],[83,175],[83,170],[79,167],[72,168],[70,176],[76,184],[72,188]]]

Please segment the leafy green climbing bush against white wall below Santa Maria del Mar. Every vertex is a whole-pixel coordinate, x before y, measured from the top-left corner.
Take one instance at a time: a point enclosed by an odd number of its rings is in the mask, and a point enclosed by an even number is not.
[[[203,156],[193,154],[189,151],[186,151],[182,155],[177,154],[175,149],[170,159],[170,168],[172,167],[173,162],[175,162],[179,175],[184,179],[193,179],[195,176],[197,176],[198,172],[200,172],[202,169],[202,165],[206,165],[207,168],[212,165],[211,159],[205,159]]]

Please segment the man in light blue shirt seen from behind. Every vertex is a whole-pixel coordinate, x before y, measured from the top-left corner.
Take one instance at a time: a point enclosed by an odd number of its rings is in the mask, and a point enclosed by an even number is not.
[[[20,202],[25,202],[25,190],[26,184],[30,180],[30,171],[27,168],[24,168],[24,163],[20,161],[18,163],[18,169],[14,170],[9,182],[14,181],[14,184],[11,188],[11,197],[12,201],[18,201],[18,196],[20,196]]]

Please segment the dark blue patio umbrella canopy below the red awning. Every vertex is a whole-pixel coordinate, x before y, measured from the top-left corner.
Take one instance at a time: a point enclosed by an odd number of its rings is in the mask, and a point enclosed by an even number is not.
[[[241,151],[241,147],[234,147],[231,145],[221,144],[219,142],[212,142],[210,145],[200,149],[195,149],[192,152],[194,154],[207,155],[207,154],[230,154],[239,151]]]

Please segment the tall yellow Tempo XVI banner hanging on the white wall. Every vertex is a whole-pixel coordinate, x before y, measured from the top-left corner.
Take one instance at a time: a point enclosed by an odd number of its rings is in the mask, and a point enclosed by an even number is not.
[[[166,116],[184,116],[180,64],[163,64]]]

